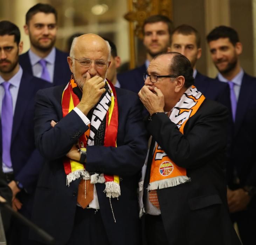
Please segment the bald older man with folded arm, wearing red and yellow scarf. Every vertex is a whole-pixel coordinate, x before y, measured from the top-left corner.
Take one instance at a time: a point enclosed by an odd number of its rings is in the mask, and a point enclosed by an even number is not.
[[[67,85],[37,93],[35,141],[47,162],[33,221],[57,244],[139,245],[143,106],[137,94],[106,79],[110,46],[103,38],[74,38],[68,64],[73,75]]]

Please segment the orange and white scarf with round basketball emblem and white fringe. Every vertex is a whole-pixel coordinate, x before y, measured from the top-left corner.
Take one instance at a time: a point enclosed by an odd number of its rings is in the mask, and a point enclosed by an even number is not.
[[[199,109],[205,96],[195,86],[189,87],[174,106],[169,119],[184,133],[187,120]],[[155,142],[148,190],[177,186],[190,181],[185,168],[177,166]]]

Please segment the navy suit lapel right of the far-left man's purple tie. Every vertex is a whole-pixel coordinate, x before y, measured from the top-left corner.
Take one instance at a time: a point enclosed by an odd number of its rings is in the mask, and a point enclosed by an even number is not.
[[[33,93],[35,84],[31,82],[31,79],[31,76],[28,76],[23,72],[13,117],[12,141],[18,133],[21,120],[25,114],[28,104],[29,102],[31,103],[31,98],[34,97]]]

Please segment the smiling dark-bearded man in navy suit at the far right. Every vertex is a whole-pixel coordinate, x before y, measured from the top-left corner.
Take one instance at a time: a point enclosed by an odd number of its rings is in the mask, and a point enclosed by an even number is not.
[[[208,34],[207,42],[219,71],[216,79],[230,87],[234,125],[227,165],[227,198],[231,218],[238,225],[243,245],[247,245],[255,240],[256,230],[256,78],[240,66],[242,43],[233,28],[216,27]]]

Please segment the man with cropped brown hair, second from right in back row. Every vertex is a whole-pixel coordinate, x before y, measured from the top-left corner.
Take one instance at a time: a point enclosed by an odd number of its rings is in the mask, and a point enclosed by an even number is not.
[[[196,62],[202,55],[200,35],[192,26],[181,25],[173,30],[171,35],[171,51],[185,55],[193,68],[196,88],[208,98],[222,103],[230,108],[229,86],[202,75],[196,69]]]

